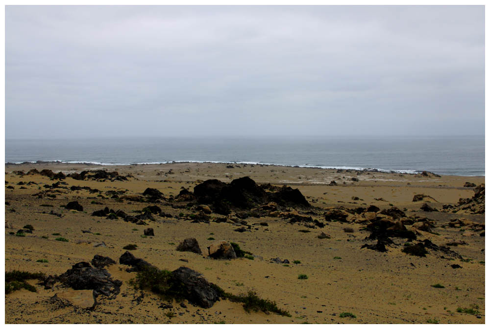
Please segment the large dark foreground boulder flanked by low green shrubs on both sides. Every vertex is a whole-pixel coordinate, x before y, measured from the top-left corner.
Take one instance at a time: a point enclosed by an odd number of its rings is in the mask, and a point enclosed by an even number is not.
[[[180,286],[183,296],[193,305],[209,308],[220,300],[220,292],[211,285],[202,274],[181,266],[172,271],[172,279],[175,286]]]

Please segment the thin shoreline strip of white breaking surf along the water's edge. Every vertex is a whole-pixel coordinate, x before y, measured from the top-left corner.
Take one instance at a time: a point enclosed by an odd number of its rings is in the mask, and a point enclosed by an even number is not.
[[[7,166],[18,166],[18,165],[85,165],[85,166],[136,166],[136,165],[169,165],[169,164],[224,164],[224,165],[253,165],[253,166],[273,166],[273,167],[285,167],[285,168],[303,168],[303,169],[323,169],[323,170],[342,170],[345,172],[369,172],[369,173],[383,173],[383,174],[403,174],[403,175],[419,175],[423,172],[427,172],[431,175],[441,175],[441,176],[461,176],[461,177],[485,177],[485,175],[444,175],[437,174],[434,172],[428,172],[425,170],[409,170],[409,169],[381,169],[381,168],[368,168],[368,167],[351,167],[351,166],[315,166],[315,165],[285,165],[285,164],[274,164],[274,163],[262,163],[255,161],[195,161],[195,160],[177,160],[177,161],[163,161],[163,162],[138,162],[138,163],[104,163],[96,161],[23,161],[23,162],[5,162],[5,167]]]

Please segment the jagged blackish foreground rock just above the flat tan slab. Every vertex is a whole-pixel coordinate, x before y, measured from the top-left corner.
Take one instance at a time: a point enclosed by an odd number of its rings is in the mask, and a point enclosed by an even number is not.
[[[57,281],[75,290],[92,289],[96,296],[103,294],[115,298],[123,283],[110,277],[105,269],[94,268],[87,262],[80,262],[57,277]]]

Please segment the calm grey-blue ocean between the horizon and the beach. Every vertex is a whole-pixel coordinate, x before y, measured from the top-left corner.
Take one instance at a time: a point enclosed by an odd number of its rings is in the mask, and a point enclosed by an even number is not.
[[[6,139],[5,162],[237,162],[485,175],[484,136]]]

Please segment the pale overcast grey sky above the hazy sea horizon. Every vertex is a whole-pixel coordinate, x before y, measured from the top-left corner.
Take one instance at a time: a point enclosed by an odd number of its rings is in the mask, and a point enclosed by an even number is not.
[[[6,6],[5,138],[484,135],[484,6]]]

